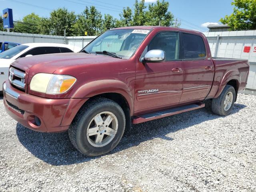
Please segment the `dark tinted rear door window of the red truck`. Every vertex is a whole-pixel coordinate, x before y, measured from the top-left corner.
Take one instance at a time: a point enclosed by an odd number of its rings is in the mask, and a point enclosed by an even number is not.
[[[194,34],[182,33],[184,59],[202,59],[206,57],[204,40]]]

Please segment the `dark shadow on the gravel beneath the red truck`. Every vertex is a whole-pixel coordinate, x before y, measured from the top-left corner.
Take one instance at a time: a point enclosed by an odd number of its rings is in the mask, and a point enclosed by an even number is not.
[[[243,104],[234,104],[232,114],[237,113],[245,107],[246,106]],[[108,154],[114,154],[132,148],[133,146],[138,146],[140,143],[154,138],[162,138],[172,142],[173,138],[166,136],[167,134],[216,118],[224,117],[212,114],[210,105],[206,103],[205,108],[195,111],[189,111],[141,124],[134,124],[132,125],[132,129],[124,134],[118,146]],[[86,157],[80,154],[80,152],[72,146],[68,138],[68,132],[41,133],[25,128],[18,123],[16,125],[16,133],[20,143],[31,152],[31,154],[51,165],[78,164],[101,157]]]

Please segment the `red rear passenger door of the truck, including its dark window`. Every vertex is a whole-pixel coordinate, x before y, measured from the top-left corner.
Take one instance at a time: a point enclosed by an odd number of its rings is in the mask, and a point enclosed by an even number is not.
[[[214,64],[207,58],[205,43],[201,36],[182,33],[184,82],[180,104],[204,100],[211,88]]]

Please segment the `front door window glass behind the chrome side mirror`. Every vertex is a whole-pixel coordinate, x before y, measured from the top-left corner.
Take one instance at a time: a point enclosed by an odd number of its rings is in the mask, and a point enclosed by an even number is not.
[[[178,32],[160,32],[156,34],[148,46],[148,51],[153,49],[163,50],[166,54],[166,60],[179,59]]]

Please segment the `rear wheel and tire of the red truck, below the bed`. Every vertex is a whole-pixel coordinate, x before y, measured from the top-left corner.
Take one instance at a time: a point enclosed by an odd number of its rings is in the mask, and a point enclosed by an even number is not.
[[[226,96],[229,97],[229,99],[227,99],[228,101],[226,100]],[[230,114],[235,100],[236,91],[234,87],[231,85],[226,85],[220,96],[212,99],[212,112],[220,116],[226,116]]]

